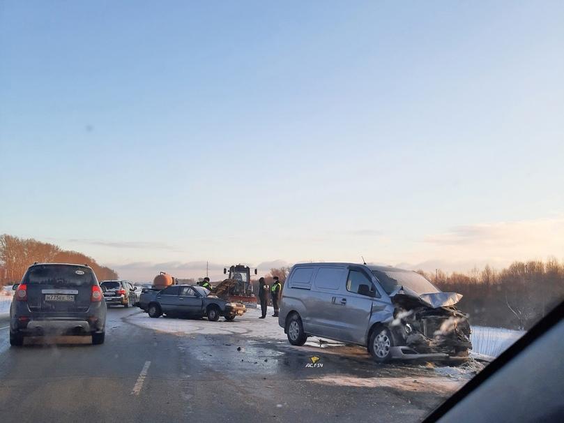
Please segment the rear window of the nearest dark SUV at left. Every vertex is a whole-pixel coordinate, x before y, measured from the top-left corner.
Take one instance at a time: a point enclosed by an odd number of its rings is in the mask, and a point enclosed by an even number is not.
[[[22,283],[27,285],[93,285],[92,269],[83,266],[39,265],[30,267]]]

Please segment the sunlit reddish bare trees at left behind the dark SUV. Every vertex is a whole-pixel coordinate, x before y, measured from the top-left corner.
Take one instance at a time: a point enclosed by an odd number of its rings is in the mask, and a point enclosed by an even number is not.
[[[89,265],[98,281],[118,279],[114,269],[100,266],[93,258],[78,251],[63,250],[54,244],[13,235],[0,235],[0,284],[20,282],[26,269],[34,262],[73,263]]]

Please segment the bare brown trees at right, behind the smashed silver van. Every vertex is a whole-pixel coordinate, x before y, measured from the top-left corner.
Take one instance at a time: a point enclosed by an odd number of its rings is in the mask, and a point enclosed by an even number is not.
[[[418,273],[442,291],[462,294],[457,307],[473,325],[530,329],[564,299],[564,262],[554,258],[513,262],[501,270],[486,266],[466,274]]]

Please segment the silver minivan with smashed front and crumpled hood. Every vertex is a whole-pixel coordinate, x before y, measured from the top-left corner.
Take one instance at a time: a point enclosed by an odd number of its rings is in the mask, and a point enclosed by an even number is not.
[[[278,323],[292,345],[319,336],[366,346],[377,362],[464,359],[472,346],[460,298],[409,270],[305,263],[284,283]]]

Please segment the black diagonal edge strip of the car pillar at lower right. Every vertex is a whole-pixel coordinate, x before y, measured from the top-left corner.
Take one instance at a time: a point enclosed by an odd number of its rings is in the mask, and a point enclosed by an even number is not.
[[[432,411],[423,423],[436,422],[443,417],[449,410],[454,408],[459,401],[462,401],[466,396],[471,394],[474,389],[478,388],[489,377],[493,376],[496,371],[500,370],[505,364],[517,357],[525,348],[535,342],[540,336],[554,327],[564,316],[564,302],[561,302],[550,313],[547,314],[540,322],[533,326],[526,334],[521,336],[510,348],[501,353],[493,362],[485,367],[474,378],[468,381],[466,385],[460,388],[457,392],[452,394],[445,402],[438,408]]]

